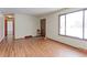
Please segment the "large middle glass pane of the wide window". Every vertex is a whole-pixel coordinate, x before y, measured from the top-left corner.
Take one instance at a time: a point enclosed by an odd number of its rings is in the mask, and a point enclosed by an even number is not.
[[[83,39],[83,11],[66,14],[66,35]]]

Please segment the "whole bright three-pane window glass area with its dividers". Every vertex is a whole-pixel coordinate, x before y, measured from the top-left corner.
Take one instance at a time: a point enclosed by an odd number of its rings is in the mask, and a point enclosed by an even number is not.
[[[59,35],[87,39],[87,10],[59,15]]]

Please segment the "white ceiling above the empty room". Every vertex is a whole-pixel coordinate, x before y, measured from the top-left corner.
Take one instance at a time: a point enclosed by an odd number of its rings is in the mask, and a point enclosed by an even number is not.
[[[63,8],[0,8],[1,13],[25,13],[31,15],[43,15],[58,11]]]

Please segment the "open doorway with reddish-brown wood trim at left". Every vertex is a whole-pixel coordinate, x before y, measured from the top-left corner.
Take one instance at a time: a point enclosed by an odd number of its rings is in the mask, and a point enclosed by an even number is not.
[[[14,17],[13,14],[4,15],[4,36],[7,39],[14,39]]]

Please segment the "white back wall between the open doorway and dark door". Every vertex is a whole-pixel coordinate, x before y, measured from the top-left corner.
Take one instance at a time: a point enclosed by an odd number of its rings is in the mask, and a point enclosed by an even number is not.
[[[28,14],[14,14],[15,19],[15,39],[26,35],[36,35],[39,29],[39,19]]]

